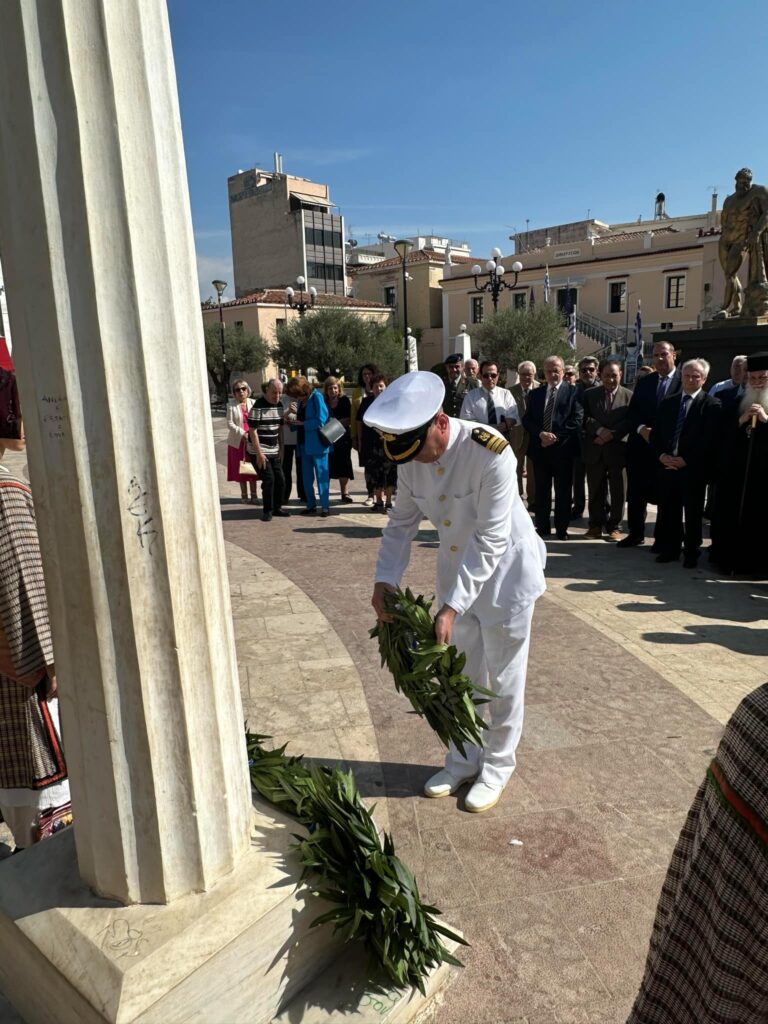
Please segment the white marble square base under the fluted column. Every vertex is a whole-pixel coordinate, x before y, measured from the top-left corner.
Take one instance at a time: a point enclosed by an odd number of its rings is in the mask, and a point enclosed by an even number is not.
[[[331,928],[310,929],[327,905],[297,890],[296,828],[258,803],[253,848],[237,870],[168,905],[94,896],[78,873],[72,829],[8,858],[0,866],[0,989],[26,1024],[266,1024],[284,1008],[292,1024],[347,1013],[359,1020],[356,1007],[382,996],[366,984],[365,957],[350,957]],[[346,969],[343,981],[334,961]],[[318,1004],[311,983],[319,975]],[[328,982],[337,975],[334,993]],[[443,966],[432,987],[447,975]],[[388,1007],[409,1006],[408,994],[384,994]],[[414,1002],[414,1014],[423,1006]]]

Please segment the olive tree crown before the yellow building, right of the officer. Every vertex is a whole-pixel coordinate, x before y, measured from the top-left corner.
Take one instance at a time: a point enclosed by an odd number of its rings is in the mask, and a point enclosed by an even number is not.
[[[573,357],[566,341],[565,321],[551,303],[534,309],[500,309],[478,325],[472,337],[485,359],[496,359],[499,371],[516,370],[523,359],[532,359],[541,370],[548,355]]]

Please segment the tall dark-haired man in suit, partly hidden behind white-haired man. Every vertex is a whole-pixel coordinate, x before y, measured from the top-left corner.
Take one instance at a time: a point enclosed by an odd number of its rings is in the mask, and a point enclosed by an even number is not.
[[[645,510],[655,504],[656,460],[650,447],[656,409],[665,398],[680,393],[680,372],[675,369],[675,349],[670,341],[653,346],[654,373],[635,384],[630,402],[630,436],[627,443],[627,525],[629,532],[617,548],[645,543]],[[657,550],[654,545],[653,550]]]

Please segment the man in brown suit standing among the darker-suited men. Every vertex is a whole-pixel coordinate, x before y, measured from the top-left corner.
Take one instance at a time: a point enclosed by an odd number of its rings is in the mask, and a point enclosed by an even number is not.
[[[590,494],[590,524],[586,536],[599,541],[605,527],[608,539],[618,541],[624,515],[624,470],[632,391],[622,387],[622,365],[612,359],[603,365],[600,380],[602,387],[591,387],[582,396],[582,460],[587,467]],[[606,520],[608,487],[610,506]]]

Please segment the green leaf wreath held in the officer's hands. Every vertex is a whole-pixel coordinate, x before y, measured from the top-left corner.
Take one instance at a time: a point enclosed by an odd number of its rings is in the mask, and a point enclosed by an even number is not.
[[[464,675],[466,654],[435,643],[432,602],[397,589],[385,595],[384,605],[392,622],[379,623],[371,636],[379,638],[381,664],[392,673],[397,690],[446,746],[453,741],[462,754],[465,742],[482,746],[486,726],[477,709],[494,694]]]

